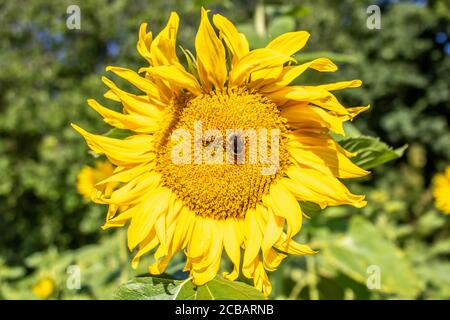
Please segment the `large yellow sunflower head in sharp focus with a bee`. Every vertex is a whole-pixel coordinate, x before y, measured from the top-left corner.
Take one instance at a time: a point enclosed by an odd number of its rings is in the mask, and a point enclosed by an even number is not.
[[[125,92],[104,77],[105,97],[120,102],[123,112],[95,100],[88,104],[105,122],[133,135],[120,140],[73,127],[117,166],[100,184],[120,186],[94,201],[110,206],[104,228],[129,222],[133,267],[152,252],[149,272],[160,274],[184,251],[184,270],[202,285],[215,277],[226,253],[233,266],[226,278],[242,272],[269,295],[267,271],[288,254],[315,253],[293,240],[302,226],[299,201],[322,208],[366,204],[340,179],[368,172],[329,133],[344,134],[343,123],[368,107],[345,108],[332,93],[359,87],[359,80],[290,85],[307,69],[337,70],[327,58],[296,62],[293,55],[305,46],[307,32],[289,32],[250,50],[227,18],[215,14],[212,20],[218,32],[202,9],[196,57],[181,48],[187,67],[176,54],[179,18],[172,12],[156,37],[146,23],[140,27],[137,50],[148,66],[138,72],[106,68],[142,93]],[[250,148],[255,137],[257,148]],[[184,155],[174,161],[178,153]],[[114,213],[119,206],[126,210]]]

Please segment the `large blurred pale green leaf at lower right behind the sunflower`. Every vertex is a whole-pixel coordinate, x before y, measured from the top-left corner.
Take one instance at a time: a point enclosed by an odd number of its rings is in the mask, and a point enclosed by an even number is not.
[[[374,291],[414,298],[423,288],[404,253],[362,217],[354,216],[346,235],[330,239],[322,252],[333,268],[362,284],[372,275],[368,268],[378,267],[380,288]]]

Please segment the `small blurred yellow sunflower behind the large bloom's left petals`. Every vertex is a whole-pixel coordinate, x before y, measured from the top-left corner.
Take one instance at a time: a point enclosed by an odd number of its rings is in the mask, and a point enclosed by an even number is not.
[[[84,166],[77,175],[78,192],[86,200],[90,200],[92,194],[97,190],[110,194],[116,183],[101,185],[97,185],[97,183],[110,177],[113,173],[114,166],[109,161],[97,161],[95,167]]]

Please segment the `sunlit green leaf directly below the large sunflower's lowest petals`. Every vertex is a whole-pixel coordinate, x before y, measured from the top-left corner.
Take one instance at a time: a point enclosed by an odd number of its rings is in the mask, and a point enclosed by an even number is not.
[[[120,300],[262,300],[258,290],[242,282],[217,276],[202,286],[190,279],[157,277],[135,278],[121,285],[115,293]]]

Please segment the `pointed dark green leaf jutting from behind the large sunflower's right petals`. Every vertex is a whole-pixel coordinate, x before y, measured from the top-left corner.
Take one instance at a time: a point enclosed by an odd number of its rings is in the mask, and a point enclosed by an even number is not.
[[[344,138],[338,142],[344,149],[357,152],[357,155],[351,160],[363,169],[371,169],[398,159],[403,156],[408,147],[404,145],[398,149],[393,149],[380,139],[369,136]]]

